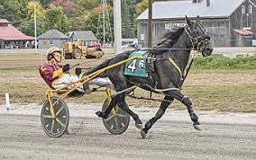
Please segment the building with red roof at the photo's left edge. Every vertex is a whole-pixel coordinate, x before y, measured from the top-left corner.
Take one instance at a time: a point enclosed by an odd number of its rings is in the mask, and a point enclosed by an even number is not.
[[[23,34],[5,19],[0,19],[0,49],[24,49],[32,47],[33,37]]]

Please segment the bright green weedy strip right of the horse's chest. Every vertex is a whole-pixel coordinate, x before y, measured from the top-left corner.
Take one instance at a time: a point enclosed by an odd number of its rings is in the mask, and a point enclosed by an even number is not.
[[[197,57],[193,68],[195,69],[256,69],[256,57],[244,58],[216,58]]]

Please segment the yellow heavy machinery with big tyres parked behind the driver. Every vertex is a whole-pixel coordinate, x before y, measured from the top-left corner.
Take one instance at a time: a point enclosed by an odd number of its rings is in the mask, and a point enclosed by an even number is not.
[[[65,59],[80,59],[83,56],[86,58],[102,58],[105,54],[100,44],[84,46],[83,40],[64,43],[63,50]]]

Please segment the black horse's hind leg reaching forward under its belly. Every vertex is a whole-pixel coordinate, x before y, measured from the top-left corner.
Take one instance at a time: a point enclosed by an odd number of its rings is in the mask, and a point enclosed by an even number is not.
[[[139,118],[138,114],[129,109],[127,103],[125,102],[125,94],[120,95],[118,98],[118,106],[133,117],[137,129],[142,129],[142,120]]]

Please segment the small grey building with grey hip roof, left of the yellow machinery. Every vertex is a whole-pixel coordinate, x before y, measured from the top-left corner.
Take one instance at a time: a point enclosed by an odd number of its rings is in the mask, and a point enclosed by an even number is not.
[[[50,47],[62,48],[69,37],[58,30],[46,31],[38,37],[39,49],[49,49]]]

